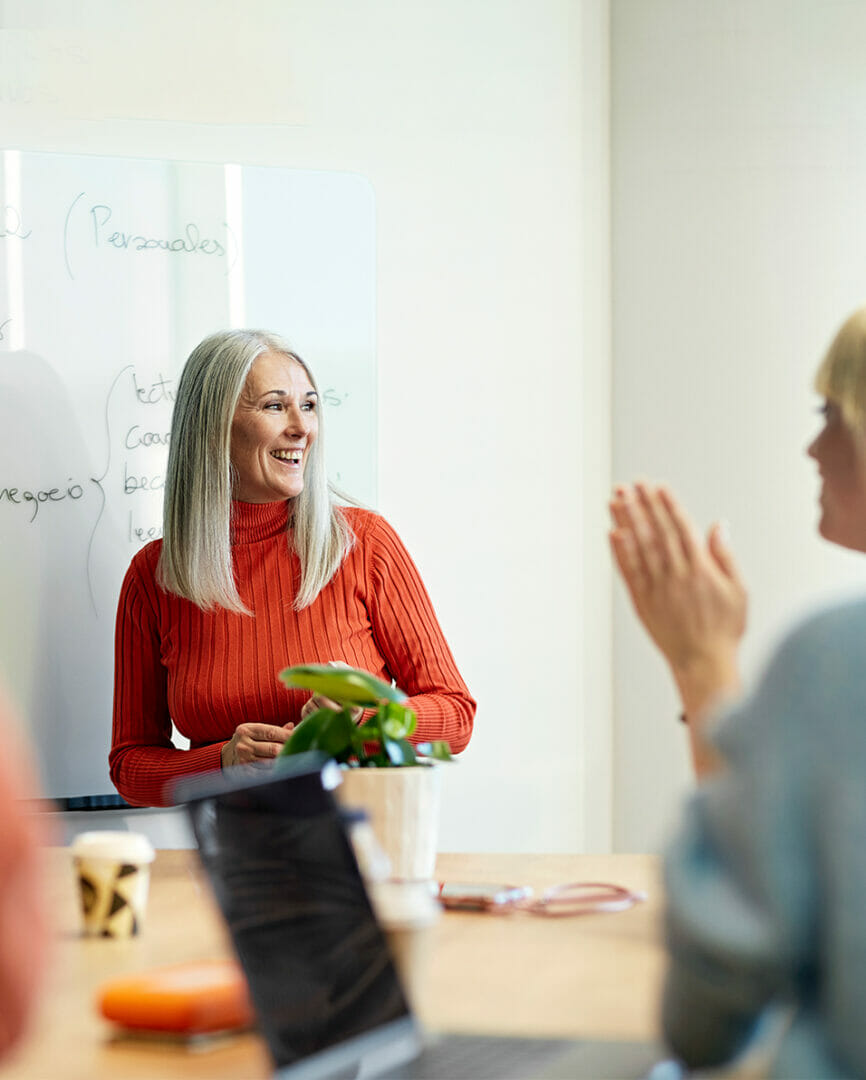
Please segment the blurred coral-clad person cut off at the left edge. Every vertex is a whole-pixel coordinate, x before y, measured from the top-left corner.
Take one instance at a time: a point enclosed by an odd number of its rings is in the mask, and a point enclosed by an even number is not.
[[[0,696],[0,1064],[21,1043],[42,983],[48,920],[29,755]]]

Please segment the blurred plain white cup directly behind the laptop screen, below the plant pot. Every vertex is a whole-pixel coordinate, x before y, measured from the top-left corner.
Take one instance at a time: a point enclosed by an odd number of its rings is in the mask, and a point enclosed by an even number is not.
[[[442,908],[422,881],[378,881],[369,891],[400,981],[415,1001],[427,976],[431,931]]]

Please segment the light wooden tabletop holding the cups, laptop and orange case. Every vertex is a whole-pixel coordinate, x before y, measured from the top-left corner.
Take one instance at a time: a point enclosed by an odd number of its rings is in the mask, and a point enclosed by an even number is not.
[[[248,1032],[190,1050],[118,1040],[96,1013],[97,987],[148,967],[224,956],[229,946],[194,851],[161,851],[147,921],[130,941],[79,935],[69,852],[53,849],[49,888],[57,942],[32,1034],[2,1080],[263,1080],[270,1061]],[[430,1028],[510,1035],[652,1039],[663,968],[661,883],[652,855],[443,854],[438,876],[537,889],[615,881],[648,893],[617,914],[577,918],[448,913],[432,931],[417,1002]]]

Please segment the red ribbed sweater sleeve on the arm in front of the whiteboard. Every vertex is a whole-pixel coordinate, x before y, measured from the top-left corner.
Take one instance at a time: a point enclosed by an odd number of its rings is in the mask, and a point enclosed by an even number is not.
[[[118,604],[108,755],[111,780],[132,806],[170,806],[175,781],[220,768],[222,743],[178,750],[172,742],[160,645],[157,585],[134,559]]]

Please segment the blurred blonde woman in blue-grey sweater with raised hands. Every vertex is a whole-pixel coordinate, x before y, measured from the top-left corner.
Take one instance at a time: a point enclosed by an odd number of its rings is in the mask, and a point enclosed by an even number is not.
[[[815,386],[818,528],[866,552],[866,308]],[[671,665],[702,779],[665,864],[666,1038],[689,1066],[718,1065],[781,1005],[771,1076],[866,1077],[866,600],[794,629],[731,705],[745,589],[719,528],[704,543],[648,485],[611,509],[617,564]]]

